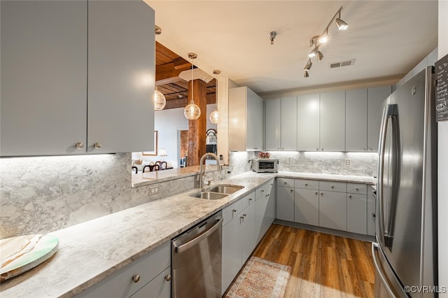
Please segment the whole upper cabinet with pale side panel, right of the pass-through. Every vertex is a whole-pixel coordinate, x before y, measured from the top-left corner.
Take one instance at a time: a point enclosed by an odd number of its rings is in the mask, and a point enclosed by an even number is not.
[[[229,90],[229,150],[254,151],[263,146],[263,101],[248,87]]]

